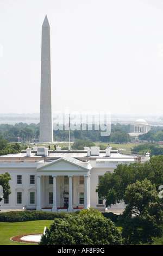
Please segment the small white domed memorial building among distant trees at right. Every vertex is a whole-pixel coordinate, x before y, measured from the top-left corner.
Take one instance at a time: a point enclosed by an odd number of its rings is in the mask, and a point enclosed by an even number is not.
[[[148,125],[147,121],[142,118],[139,118],[131,125],[131,136],[138,136],[143,133],[147,133],[151,130],[151,125]]]

